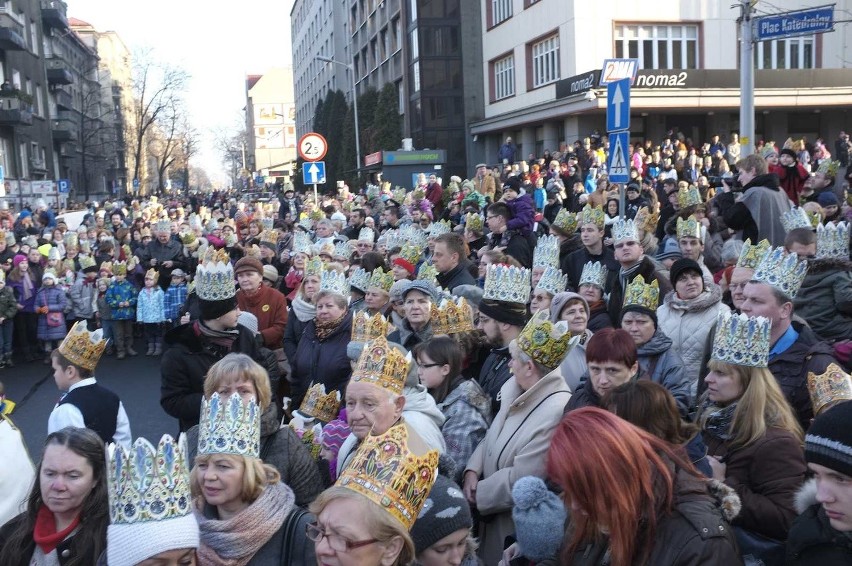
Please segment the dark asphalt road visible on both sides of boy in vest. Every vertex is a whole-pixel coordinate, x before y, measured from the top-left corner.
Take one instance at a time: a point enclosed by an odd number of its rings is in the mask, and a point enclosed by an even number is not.
[[[137,341],[136,350],[145,352],[141,340]],[[144,436],[156,445],[163,434],[177,434],[177,420],[160,407],[160,358],[141,354],[124,360],[105,357],[95,375],[98,383],[121,398],[134,439]],[[23,431],[30,454],[37,461],[47,436],[47,417],[59,398],[53,370],[41,360],[19,364],[0,369],[0,381],[6,386],[6,397],[18,404],[11,417]]]

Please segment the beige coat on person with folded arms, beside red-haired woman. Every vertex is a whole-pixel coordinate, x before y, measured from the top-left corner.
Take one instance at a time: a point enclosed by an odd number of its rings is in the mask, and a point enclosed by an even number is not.
[[[514,376],[500,389],[500,410],[467,465],[480,478],[476,507],[486,517],[479,524],[479,553],[485,564],[500,561],[503,540],[515,532],[515,481],[524,476],[545,477],[550,437],[570,398],[558,368],[527,391],[521,391]]]

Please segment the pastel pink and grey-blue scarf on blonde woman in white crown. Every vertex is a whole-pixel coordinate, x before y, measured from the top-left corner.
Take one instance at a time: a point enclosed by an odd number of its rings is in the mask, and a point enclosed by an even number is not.
[[[203,502],[203,499],[200,499]],[[198,510],[199,564],[243,566],[281,528],[295,507],[293,491],[278,482],[266,486],[260,497],[234,517],[208,519]]]

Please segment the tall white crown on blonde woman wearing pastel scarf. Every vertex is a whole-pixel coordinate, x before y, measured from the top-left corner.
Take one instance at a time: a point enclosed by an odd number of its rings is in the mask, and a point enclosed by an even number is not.
[[[201,399],[198,425],[199,454],[237,454],[260,457],[260,407],[254,399],[243,403],[238,394]]]

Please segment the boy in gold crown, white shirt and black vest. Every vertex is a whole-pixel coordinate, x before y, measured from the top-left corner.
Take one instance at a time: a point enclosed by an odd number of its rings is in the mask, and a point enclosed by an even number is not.
[[[104,442],[130,446],[130,421],[124,405],[95,379],[106,343],[101,330],[89,332],[86,322],[79,321],[51,353],[53,379],[62,396],[47,421],[48,434],[66,426],[88,428]]]

